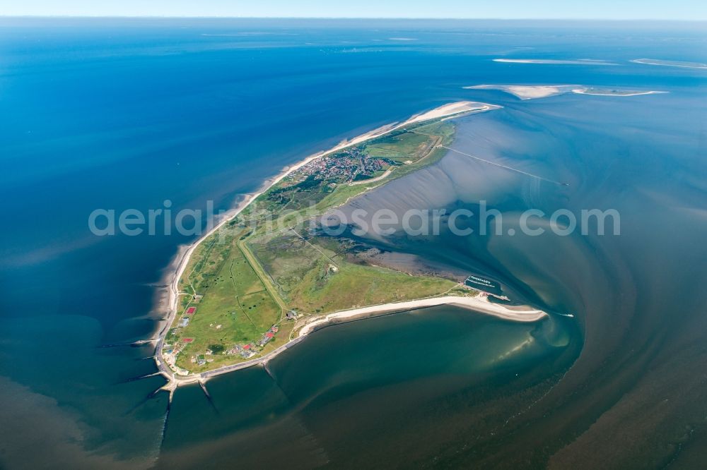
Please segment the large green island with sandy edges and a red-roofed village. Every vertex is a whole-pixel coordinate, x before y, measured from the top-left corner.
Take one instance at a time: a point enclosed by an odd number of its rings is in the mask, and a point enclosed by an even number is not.
[[[258,363],[332,323],[454,304],[518,321],[547,313],[509,305],[478,283],[411,275],[367,262],[317,216],[437,162],[453,119],[499,107],[455,102],[320,152],[269,181],[182,253],[156,363],[171,392]],[[477,282],[477,281],[474,281]],[[483,284],[481,284],[483,287]]]

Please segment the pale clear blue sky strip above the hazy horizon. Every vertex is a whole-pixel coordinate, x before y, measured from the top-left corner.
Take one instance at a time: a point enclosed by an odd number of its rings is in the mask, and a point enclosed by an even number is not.
[[[707,20],[703,0],[0,0],[0,15]]]

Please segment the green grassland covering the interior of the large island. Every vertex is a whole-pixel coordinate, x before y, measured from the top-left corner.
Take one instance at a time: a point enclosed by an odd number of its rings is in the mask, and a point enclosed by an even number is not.
[[[259,355],[267,354],[288,341],[295,325],[286,319],[288,311],[302,318],[457,289],[457,283],[448,279],[366,265],[349,250],[346,239],[320,236],[306,223],[356,195],[436,162],[445,153],[437,145],[448,145],[453,132],[450,121],[437,121],[364,144],[367,155],[395,165],[381,181],[352,186],[336,176],[287,176],[200,243],[180,279],[180,311],[165,339],[169,344],[165,351],[183,347],[177,366],[195,373],[244,361],[240,354],[226,353],[245,344]],[[280,229],[270,229],[269,220]],[[186,315],[190,307],[196,311]],[[180,326],[185,317],[189,324]],[[264,346],[258,344],[273,325],[279,328],[274,338]],[[199,365],[195,362],[199,359],[207,362]]]

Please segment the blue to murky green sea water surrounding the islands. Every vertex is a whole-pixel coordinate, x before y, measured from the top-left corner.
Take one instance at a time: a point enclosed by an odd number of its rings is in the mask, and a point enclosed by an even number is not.
[[[690,23],[0,20],[0,466],[690,466],[707,445],[707,62]],[[616,65],[510,64],[496,58]],[[663,90],[521,101],[484,83]],[[196,236],[95,236],[95,209],[227,210],[288,164],[457,100],[455,152],[356,201],[614,208],[620,236],[393,236],[555,312],[327,327],[177,390],[150,344]],[[165,204],[165,201],[169,201]],[[395,248],[395,249],[394,249]],[[573,318],[559,313],[573,313]],[[147,377],[145,377],[147,376]],[[627,428],[626,423],[631,423]],[[626,432],[630,429],[631,432]],[[41,448],[42,452],[37,452]],[[512,450],[509,451],[509,450]]]

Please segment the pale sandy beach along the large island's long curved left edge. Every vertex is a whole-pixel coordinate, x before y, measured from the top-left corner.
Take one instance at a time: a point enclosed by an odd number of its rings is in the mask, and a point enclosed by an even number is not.
[[[403,121],[402,123],[400,122],[395,122],[395,123],[390,123],[385,126],[380,126],[378,128],[375,128],[371,131],[368,131],[366,133],[363,133],[361,135],[358,135],[354,138],[351,138],[350,140],[342,140],[341,143],[338,145],[335,145],[334,147],[330,148],[329,150],[322,150],[320,152],[317,152],[315,154],[309,155],[308,157],[305,157],[304,159],[300,160],[300,162],[297,162],[296,164],[288,165],[286,167],[283,167],[276,176],[272,176],[266,180],[263,181],[263,184],[260,186],[260,188],[255,192],[250,195],[246,195],[246,197],[238,203],[233,210],[230,210],[223,214],[220,220],[216,224],[214,224],[213,227],[209,227],[209,229],[206,230],[206,232],[199,237],[196,241],[189,245],[182,245],[179,248],[177,248],[177,253],[175,254],[175,257],[173,260],[170,262],[168,267],[165,268],[166,273],[164,282],[160,283],[163,285],[168,285],[168,299],[167,299],[167,305],[166,308],[168,309],[168,315],[165,320],[162,320],[164,322],[163,325],[160,327],[156,328],[157,332],[157,337],[153,338],[151,341],[156,342],[156,347],[155,347],[155,363],[158,368],[158,373],[160,375],[163,375],[167,380],[168,383],[163,387],[166,390],[170,390],[170,392],[173,392],[173,390],[177,387],[177,382],[198,382],[198,378],[191,378],[187,379],[190,376],[179,376],[175,374],[175,372],[163,361],[162,358],[162,347],[163,347],[163,342],[165,340],[165,337],[167,333],[170,330],[170,325],[172,325],[175,317],[178,314],[178,308],[179,308],[179,299],[180,299],[180,291],[179,291],[179,282],[180,279],[182,278],[182,275],[184,275],[184,272],[187,268],[187,265],[189,264],[189,258],[191,258],[192,253],[194,253],[194,250],[203,242],[206,238],[211,236],[211,234],[214,234],[218,229],[223,227],[226,223],[230,222],[234,217],[238,216],[240,212],[243,212],[246,207],[248,207],[253,201],[255,201],[259,195],[262,195],[262,193],[266,192],[271,188],[272,186],[276,185],[279,183],[282,179],[284,179],[288,174],[291,174],[293,171],[296,171],[300,169],[301,167],[305,166],[306,164],[312,162],[313,160],[320,158],[320,157],[325,157],[326,155],[330,155],[334,152],[338,152],[339,150],[343,150],[346,147],[350,147],[351,145],[357,145],[359,143],[363,143],[366,140],[370,140],[373,138],[378,138],[381,137],[382,135],[385,135],[387,133],[390,133],[392,131],[395,131],[399,128],[402,128],[404,126],[407,126],[411,123],[419,123],[423,121],[431,121],[433,119],[451,119],[452,117],[460,117],[466,114],[471,114],[471,113],[476,113],[476,112],[486,112],[490,111],[491,109],[499,109],[501,108],[500,106],[496,104],[488,104],[488,103],[483,103],[483,102],[472,102],[472,101],[459,101],[459,102],[452,102],[448,104],[443,104],[439,107],[436,107],[434,109],[431,109],[426,112],[421,112],[419,114],[415,114],[411,116],[409,119]],[[459,299],[465,299],[464,297],[460,297]],[[411,301],[414,302],[414,301]],[[438,303],[439,304],[439,303]],[[389,304],[385,304],[389,305]],[[384,306],[374,306],[374,307],[384,307]],[[366,307],[370,308],[370,307]],[[330,314],[331,315],[331,314]],[[298,338],[303,339],[305,336],[299,336]],[[296,342],[299,342],[301,339],[298,339]],[[295,340],[293,340],[295,341]],[[288,342],[285,344],[283,347],[287,349],[289,346],[288,344],[291,344],[291,342]],[[281,348],[283,348],[281,347]],[[275,351],[271,351],[268,355],[264,357],[270,357],[270,354],[276,353],[276,351],[279,351],[280,348],[276,349]],[[280,351],[281,352],[281,351]],[[279,352],[277,352],[279,354]],[[257,361],[262,361],[263,358],[259,358]],[[249,361],[246,361],[248,363]],[[245,363],[240,363],[240,364],[234,364],[233,366],[242,366]],[[245,367],[250,367],[252,365],[255,365],[255,363],[250,364]],[[225,367],[232,367],[232,366],[225,366]],[[244,367],[240,367],[244,368]],[[238,370],[240,368],[236,368],[233,370]],[[216,369],[218,370],[218,369]],[[230,372],[231,370],[227,370]],[[208,374],[211,371],[207,371],[203,374]],[[223,372],[225,373],[225,372]],[[217,374],[218,375],[218,374]],[[177,378],[180,377],[180,378]]]

